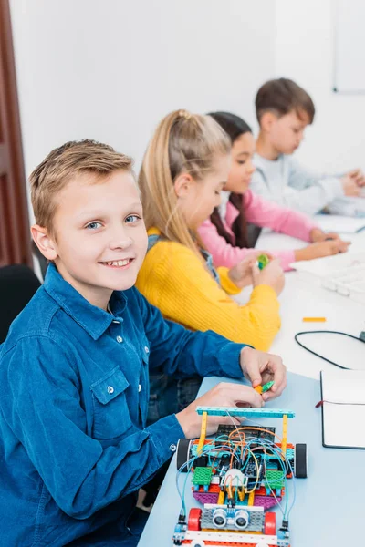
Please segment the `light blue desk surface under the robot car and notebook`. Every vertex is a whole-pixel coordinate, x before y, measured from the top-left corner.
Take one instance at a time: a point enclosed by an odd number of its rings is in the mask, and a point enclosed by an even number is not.
[[[221,378],[204,378],[200,393],[214,387]],[[289,527],[292,547],[363,547],[365,475],[364,450],[324,449],[321,444],[321,411],[315,408],[320,398],[319,382],[297,374],[288,374],[287,389],[280,405],[295,411],[289,420],[288,440],[305,442],[308,446],[308,479],[296,480],[296,502],[290,513]],[[275,408],[276,401],[267,405]],[[261,420],[255,420],[261,422]],[[279,420],[270,419],[270,426],[281,430]],[[268,421],[262,420],[268,425]],[[172,533],[181,501],[176,490],[176,456],[167,471],[162,488],[141,536],[139,547],[172,547]],[[184,477],[181,477],[183,483]],[[289,481],[290,482],[290,481]],[[188,478],[185,501],[187,510],[197,507]],[[292,485],[288,485],[292,500]],[[271,510],[270,510],[271,511]],[[276,508],[276,520],[281,524]]]

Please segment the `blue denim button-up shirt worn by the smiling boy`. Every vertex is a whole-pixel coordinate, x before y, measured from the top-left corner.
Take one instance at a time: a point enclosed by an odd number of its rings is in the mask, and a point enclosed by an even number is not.
[[[165,321],[135,288],[110,310],[50,265],[0,346],[4,547],[114,544],[114,523],[126,530],[136,490],[183,437],[175,415],[145,427],[149,368],[242,377],[242,345]]]

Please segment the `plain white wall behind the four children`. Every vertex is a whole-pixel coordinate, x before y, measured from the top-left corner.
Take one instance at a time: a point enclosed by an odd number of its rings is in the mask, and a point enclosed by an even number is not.
[[[269,77],[308,89],[317,115],[297,158],[365,169],[365,95],[332,92],[331,0],[11,0],[26,174],[68,139],[140,164],[173,108],[227,109],[255,129]]]

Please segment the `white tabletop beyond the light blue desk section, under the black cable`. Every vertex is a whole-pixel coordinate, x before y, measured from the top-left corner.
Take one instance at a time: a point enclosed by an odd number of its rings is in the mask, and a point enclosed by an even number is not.
[[[349,236],[352,241],[351,252],[359,253],[365,249],[365,233]],[[345,235],[343,235],[345,239]],[[263,233],[257,241],[258,249],[293,249],[306,243],[277,233]],[[250,290],[245,290],[235,297],[240,303],[247,300]],[[304,280],[298,272],[287,272],[286,286],[279,301],[281,304],[282,326],[276,335],[270,352],[281,356],[287,369],[307,377],[318,378],[319,371],[331,367],[316,356],[312,356],[297,345],[294,336],[301,331],[335,330],[360,335],[365,330],[365,306],[346,296],[332,293],[321,287],[315,280]],[[303,323],[303,317],[326,317],[326,323]],[[324,335],[302,338],[318,353],[328,356],[340,365],[351,367],[351,363],[364,362],[364,347],[354,340],[342,336],[326,338]],[[330,341],[330,342],[329,342]],[[328,344],[329,342],[329,344]]]

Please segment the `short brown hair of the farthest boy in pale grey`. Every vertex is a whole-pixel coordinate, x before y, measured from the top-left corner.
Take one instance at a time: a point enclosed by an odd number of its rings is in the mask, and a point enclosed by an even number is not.
[[[285,77],[269,80],[259,88],[255,98],[255,108],[258,123],[267,111],[284,116],[292,110],[297,112],[299,118],[305,112],[309,123],[312,123],[316,111],[307,91]]]

